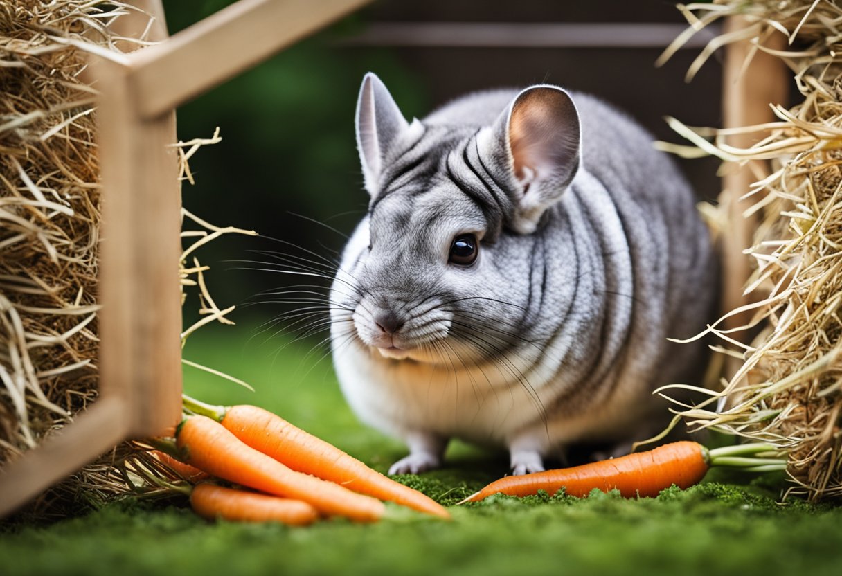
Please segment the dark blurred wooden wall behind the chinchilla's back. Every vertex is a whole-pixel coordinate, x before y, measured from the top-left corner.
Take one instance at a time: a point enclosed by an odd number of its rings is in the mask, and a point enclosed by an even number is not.
[[[349,40],[349,48],[390,47],[423,78],[435,104],[482,88],[547,82],[597,94],[625,109],[663,140],[680,141],[664,123],[664,115],[688,125],[721,125],[722,70],[717,56],[692,83],[685,83],[685,72],[705,38],[696,39],[665,66],[654,66],[663,47],[686,26],[671,2],[383,0],[364,14],[367,27]],[[435,34],[435,23],[448,25],[444,38]],[[454,26],[460,23],[466,24],[463,34]],[[510,29],[510,34],[504,27],[495,35],[493,27],[483,34],[482,26],[477,27],[482,23],[527,26]],[[546,24],[561,24],[556,37],[541,29]],[[645,24],[667,26],[646,28]],[[524,39],[530,31],[536,33],[534,37]],[[700,195],[717,195],[716,160],[680,164]]]

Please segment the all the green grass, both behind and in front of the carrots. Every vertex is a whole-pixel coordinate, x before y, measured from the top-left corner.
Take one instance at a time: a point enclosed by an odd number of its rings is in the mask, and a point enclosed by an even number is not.
[[[384,471],[402,446],[360,425],[329,359],[309,344],[278,350],[253,328],[196,333],[185,357],[249,381],[248,392],[185,369],[186,392],[258,403]],[[445,504],[505,472],[504,454],[456,444],[448,467],[410,483]],[[593,493],[493,497],[452,509],[450,523],[412,513],[376,525],[307,528],[205,522],[174,500],[128,501],[52,525],[0,531],[0,573],[17,574],[838,574],[842,509],[777,504],[765,482],[722,475],[658,499]],[[762,480],[762,479],[761,479]]]

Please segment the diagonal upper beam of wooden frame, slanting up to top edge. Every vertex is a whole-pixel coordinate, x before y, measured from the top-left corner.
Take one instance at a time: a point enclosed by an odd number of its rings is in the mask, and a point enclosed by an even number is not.
[[[370,0],[241,0],[133,58],[131,91],[154,118]]]

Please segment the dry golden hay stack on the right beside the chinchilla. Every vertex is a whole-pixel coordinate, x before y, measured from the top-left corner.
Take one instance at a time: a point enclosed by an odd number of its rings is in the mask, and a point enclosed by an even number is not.
[[[722,35],[703,51],[694,72],[715,48],[782,33],[786,62],[803,101],[774,106],[778,120],[730,130],[690,129],[670,120],[679,134],[727,163],[769,161],[770,171],[743,196],[744,215],[761,225],[745,253],[754,273],[745,293],[754,303],[726,314],[753,312],[762,327],[750,345],[719,328],[720,349],[743,360],[738,373],[706,402],[675,410],[693,429],[718,429],[770,442],[786,451],[787,494],[809,499],[842,496],[842,8],[833,2],[716,2],[683,7],[691,29],[726,16],[742,16],[744,29]],[[686,36],[670,46],[666,56]],[[750,56],[749,56],[750,57]],[[746,62],[750,66],[750,61]],[[725,142],[734,133],[763,136],[741,149]],[[745,328],[745,327],[743,327]],[[743,329],[738,328],[738,329]]]

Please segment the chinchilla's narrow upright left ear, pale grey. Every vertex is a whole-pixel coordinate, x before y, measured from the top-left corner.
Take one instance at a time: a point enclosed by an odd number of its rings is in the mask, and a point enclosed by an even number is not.
[[[365,189],[370,195],[377,193],[386,150],[407,128],[407,120],[386,85],[374,73],[367,73],[357,100],[356,130]]]

